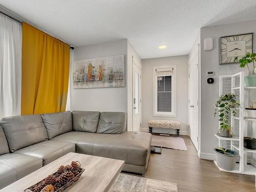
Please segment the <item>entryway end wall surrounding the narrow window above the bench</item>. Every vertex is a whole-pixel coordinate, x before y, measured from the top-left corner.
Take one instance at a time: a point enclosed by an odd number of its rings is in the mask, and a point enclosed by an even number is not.
[[[188,133],[188,56],[172,56],[142,59],[142,127],[147,128],[151,119],[178,120],[181,122],[181,134]],[[177,67],[177,117],[153,116],[153,67]]]

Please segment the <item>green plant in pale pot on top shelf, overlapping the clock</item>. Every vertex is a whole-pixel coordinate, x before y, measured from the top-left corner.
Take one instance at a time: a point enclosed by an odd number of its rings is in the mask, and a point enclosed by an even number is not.
[[[249,75],[245,76],[244,81],[246,87],[256,87],[256,73],[255,73],[255,59],[256,53],[246,53],[241,59],[239,59],[240,67],[244,68],[247,66]],[[238,57],[235,58],[238,61]],[[249,64],[252,63],[252,68],[250,69]]]

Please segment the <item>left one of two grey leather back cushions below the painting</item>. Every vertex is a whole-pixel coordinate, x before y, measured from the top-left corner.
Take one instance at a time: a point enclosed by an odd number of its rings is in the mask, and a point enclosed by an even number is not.
[[[99,122],[100,112],[73,111],[73,130],[79,132],[95,133]]]

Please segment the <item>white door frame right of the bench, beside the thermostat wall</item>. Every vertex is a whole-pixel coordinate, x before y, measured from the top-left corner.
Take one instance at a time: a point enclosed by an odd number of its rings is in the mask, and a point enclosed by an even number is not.
[[[198,156],[200,157],[201,151],[201,57],[200,57],[200,44],[198,44],[198,49],[188,60],[188,75],[190,73],[190,62],[198,56]],[[190,78],[188,78],[188,99],[190,99]],[[188,102],[188,125],[190,133],[190,103]],[[190,135],[189,135],[190,137]],[[194,143],[193,143],[194,144]],[[196,146],[195,146],[196,147]]]

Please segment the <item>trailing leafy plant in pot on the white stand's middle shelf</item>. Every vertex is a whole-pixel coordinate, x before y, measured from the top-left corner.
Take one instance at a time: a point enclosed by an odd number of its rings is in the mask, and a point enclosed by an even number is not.
[[[218,101],[216,101],[216,103],[214,104],[214,115],[216,116],[217,112],[220,112],[218,119],[220,121],[220,129],[219,132],[217,133],[218,135],[222,137],[232,137],[231,126],[230,124],[228,124],[229,115],[231,113],[233,116],[236,116],[236,108],[239,105],[240,103],[236,100],[236,95],[232,93],[224,94],[219,98]]]

